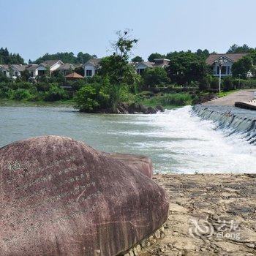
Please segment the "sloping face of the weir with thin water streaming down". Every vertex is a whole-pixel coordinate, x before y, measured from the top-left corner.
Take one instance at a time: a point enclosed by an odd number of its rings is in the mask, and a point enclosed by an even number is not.
[[[256,145],[256,116],[255,118],[239,116],[230,111],[219,111],[203,105],[195,105],[192,113],[203,119],[214,121],[217,129],[226,129],[229,135],[241,133],[250,144]]]

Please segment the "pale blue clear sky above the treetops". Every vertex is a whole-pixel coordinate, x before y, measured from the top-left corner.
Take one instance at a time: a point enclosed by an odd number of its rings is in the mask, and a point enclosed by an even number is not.
[[[0,48],[28,61],[45,53],[107,56],[116,31],[139,39],[132,56],[256,47],[255,0],[0,0]]]

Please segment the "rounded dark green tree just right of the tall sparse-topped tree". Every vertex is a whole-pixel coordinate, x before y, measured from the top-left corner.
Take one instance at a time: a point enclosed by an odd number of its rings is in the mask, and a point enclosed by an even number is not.
[[[170,81],[167,77],[167,72],[162,67],[154,67],[145,69],[143,72],[144,86],[159,86]]]

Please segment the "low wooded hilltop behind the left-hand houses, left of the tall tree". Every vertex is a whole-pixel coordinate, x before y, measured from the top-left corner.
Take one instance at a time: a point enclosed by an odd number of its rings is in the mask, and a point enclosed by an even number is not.
[[[35,64],[42,63],[46,60],[61,60],[64,63],[72,63],[72,64],[84,64],[86,61],[89,61],[91,58],[97,58],[96,55],[90,55],[89,53],[78,53],[77,56],[74,53],[54,53],[49,54],[46,53],[44,56],[38,58],[37,60],[33,61]]]

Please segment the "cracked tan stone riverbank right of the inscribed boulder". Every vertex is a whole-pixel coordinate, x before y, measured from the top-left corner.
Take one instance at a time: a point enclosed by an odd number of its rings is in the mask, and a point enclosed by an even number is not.
[[[170,198],[168,229],[165,238],[143,249],[140,256],[255,255],[255,174],[153,178]]]

